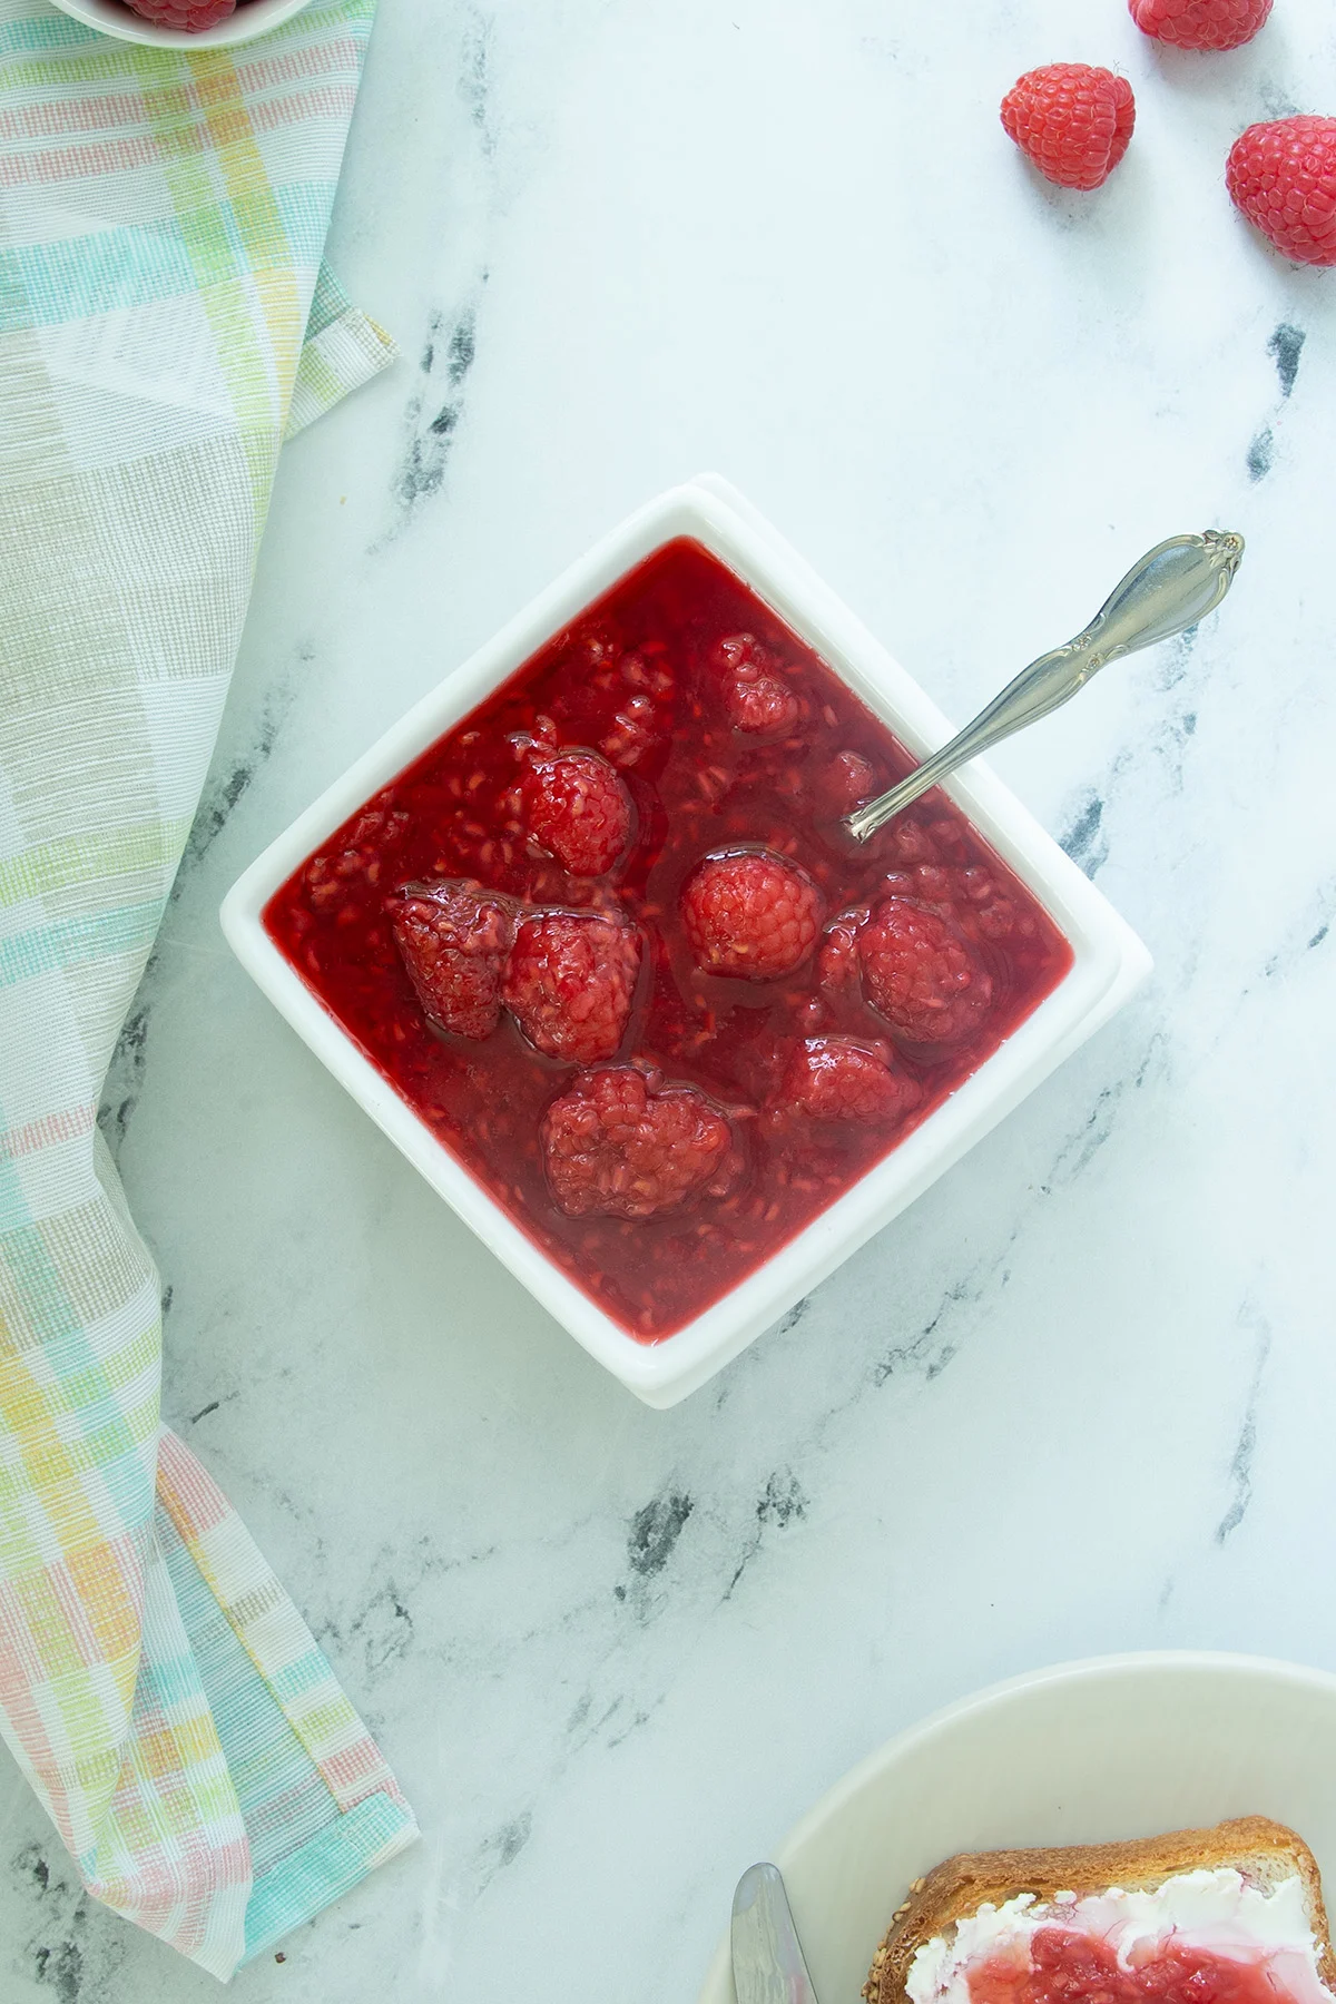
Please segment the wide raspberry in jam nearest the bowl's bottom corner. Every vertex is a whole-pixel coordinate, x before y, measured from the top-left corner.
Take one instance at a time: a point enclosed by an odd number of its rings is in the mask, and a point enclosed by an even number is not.
[[[631,1064],[585,1072],[547,1108],[547,1182],[569,1218],[651,1218],[723,1196],[737,1172],[733,1128],[695,1086]]]

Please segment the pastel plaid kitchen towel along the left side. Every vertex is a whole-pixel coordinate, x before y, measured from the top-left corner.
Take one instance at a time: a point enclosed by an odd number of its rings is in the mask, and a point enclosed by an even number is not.
[[[92,1892],[222,1978],[415,1824],[160,1429],[94,1116],[278,447],[389,355],[320,273],[373,4],[228,54],[0,0],[0,1725]]]

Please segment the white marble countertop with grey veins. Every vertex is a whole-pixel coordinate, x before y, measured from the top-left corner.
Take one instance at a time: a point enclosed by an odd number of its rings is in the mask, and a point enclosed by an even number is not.
[[[1056,56],[1138,90],[1096,196],[997,126]],[[330,259],[403,361],[284,453],[106,1106],[170,1303],[166,1417],[425,1830],[238,1998],[681,2004],[737,1872],[921,1711],[1106,1649],[1336,1667],[1336,275],[1272,259],[1222,182],[1242,124],[1292,108],[1336,110],[1322,0],[1208,60],[1122,0],[383,0]],[[1162,535],[1250,551],[1196,643],[995,758],[1150,986],[651,1413],[216,912],[385,723],[701,467],[957,717]],[[6,2004],[216,1994],[80,1898],[8,1764],[0,1942]]]

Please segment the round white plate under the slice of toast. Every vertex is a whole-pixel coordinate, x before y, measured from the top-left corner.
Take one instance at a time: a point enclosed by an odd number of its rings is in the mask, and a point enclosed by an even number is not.
[[[1298,1830],[1336,1886],[1336,1677],[1252,1655],[1110,1655],[995,1683],[913,1725],[847,1774],[775,1864],[821,2004],[855,2004],[909,1880],[951,1852],[1250,1814]],[[721,1886],[721,1908],[729,1898]],[[699,2004],[737,2004],[727,1942]]]

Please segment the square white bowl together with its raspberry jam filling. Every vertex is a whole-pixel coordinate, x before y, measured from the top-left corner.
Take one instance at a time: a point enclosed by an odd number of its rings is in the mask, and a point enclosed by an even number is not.
[[[387,731],[222,926],[497,1259],[669,1407],[1150,968],[985,766],[849,838],[947,737],[701,475]]]

